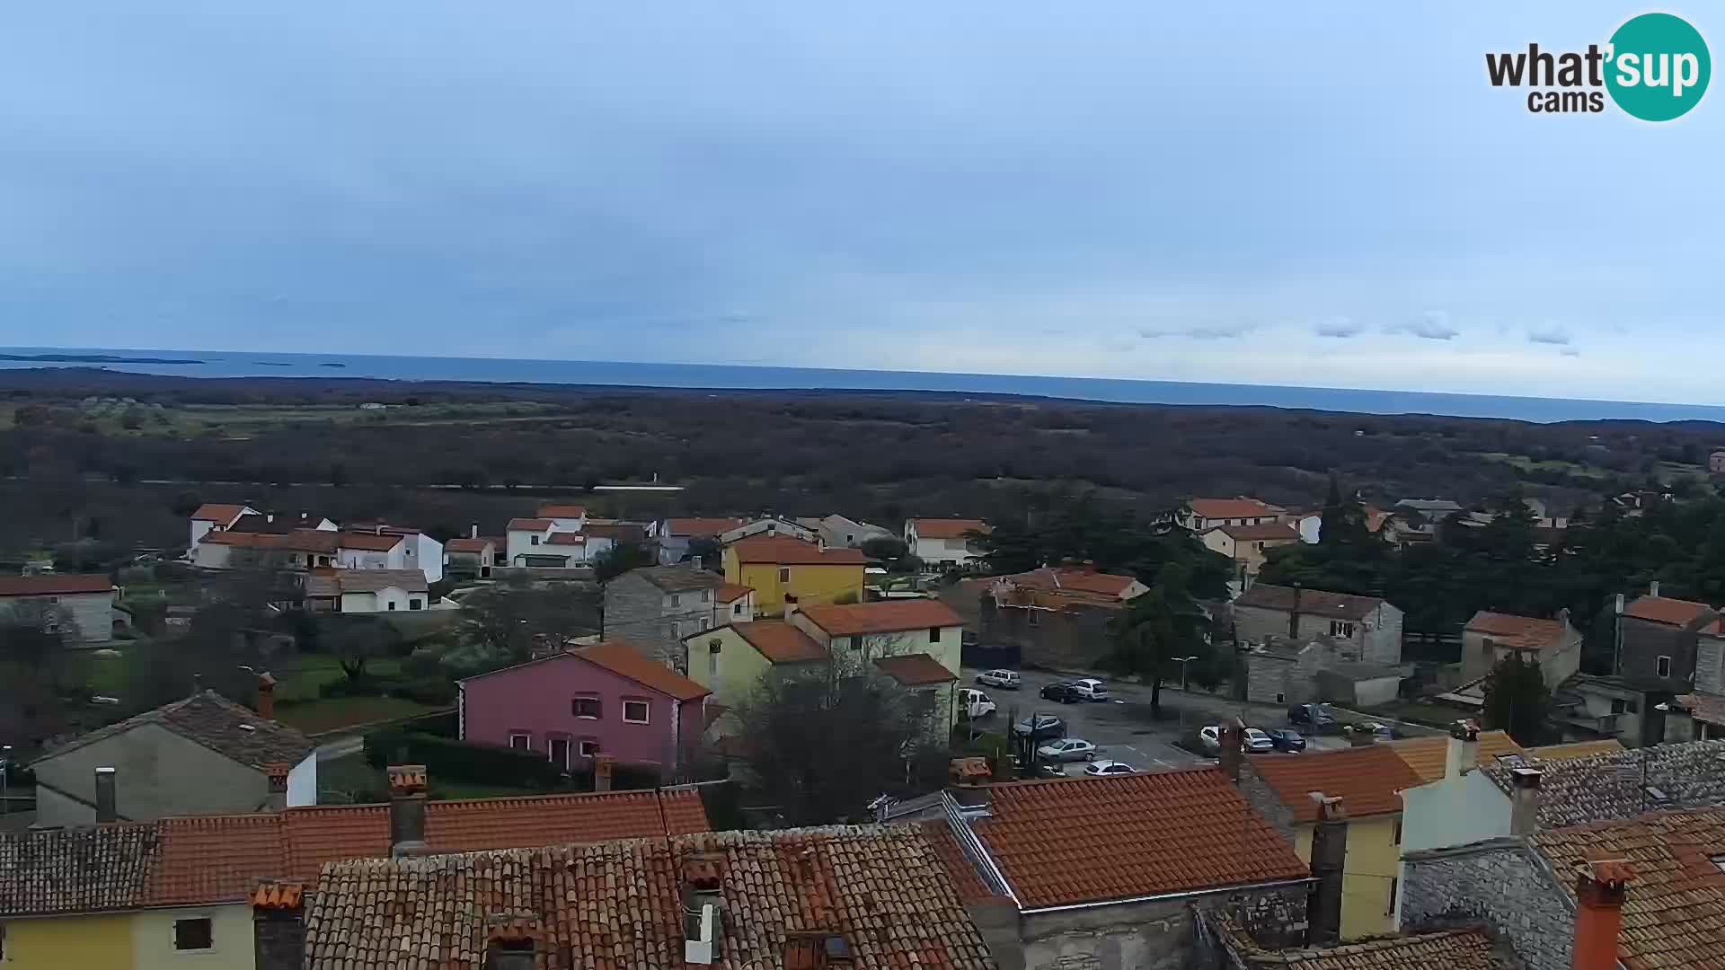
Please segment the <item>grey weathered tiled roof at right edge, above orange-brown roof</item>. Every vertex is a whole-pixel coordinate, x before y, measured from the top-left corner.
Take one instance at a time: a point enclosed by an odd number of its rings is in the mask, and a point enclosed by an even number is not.
[[[1504,792],[1515,765],[1487,765]],[[1725,740],[1634,747],[1539,765],[1539,827],[1563,828],[1603,818],[1634,818],[1663,808],[1725,804]]]

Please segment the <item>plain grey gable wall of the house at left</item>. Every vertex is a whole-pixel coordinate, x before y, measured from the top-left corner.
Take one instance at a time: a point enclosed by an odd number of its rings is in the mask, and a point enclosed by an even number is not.
[[[104,765],[117,770],[116,804],[121,818],[133,822],[164,815],[257,811],[269,797],[269,780],[262,772],[159,725],[140,725],[38,763],[40,782],[90,803],[38,799],[38,823],[93,823],[95,770]]]

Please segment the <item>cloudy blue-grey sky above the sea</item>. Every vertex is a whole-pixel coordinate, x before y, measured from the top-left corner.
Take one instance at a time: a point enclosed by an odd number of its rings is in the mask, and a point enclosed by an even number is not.
[[[1725,404],[1725,91],[1485,79],[1644,10],[10,5],[0,345]]]

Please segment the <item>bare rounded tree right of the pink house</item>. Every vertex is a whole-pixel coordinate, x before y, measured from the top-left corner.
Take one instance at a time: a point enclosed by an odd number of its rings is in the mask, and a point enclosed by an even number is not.
[[[778,666],[738,704],[737,744],[754,797],[787,825],[850,822],[899,792],[935,711],[861,661]]]

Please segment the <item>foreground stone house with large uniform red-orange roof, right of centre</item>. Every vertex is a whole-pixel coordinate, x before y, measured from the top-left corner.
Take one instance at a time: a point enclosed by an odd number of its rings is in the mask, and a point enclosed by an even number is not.
[[[1309,868],[1214,766],[954,787],[942,799],[956,842],[942,861],[1006,911],[1021,967],[1201,967],[1199,923],[1226,911],[1254,913],[1270,946],[1306,939]]]

